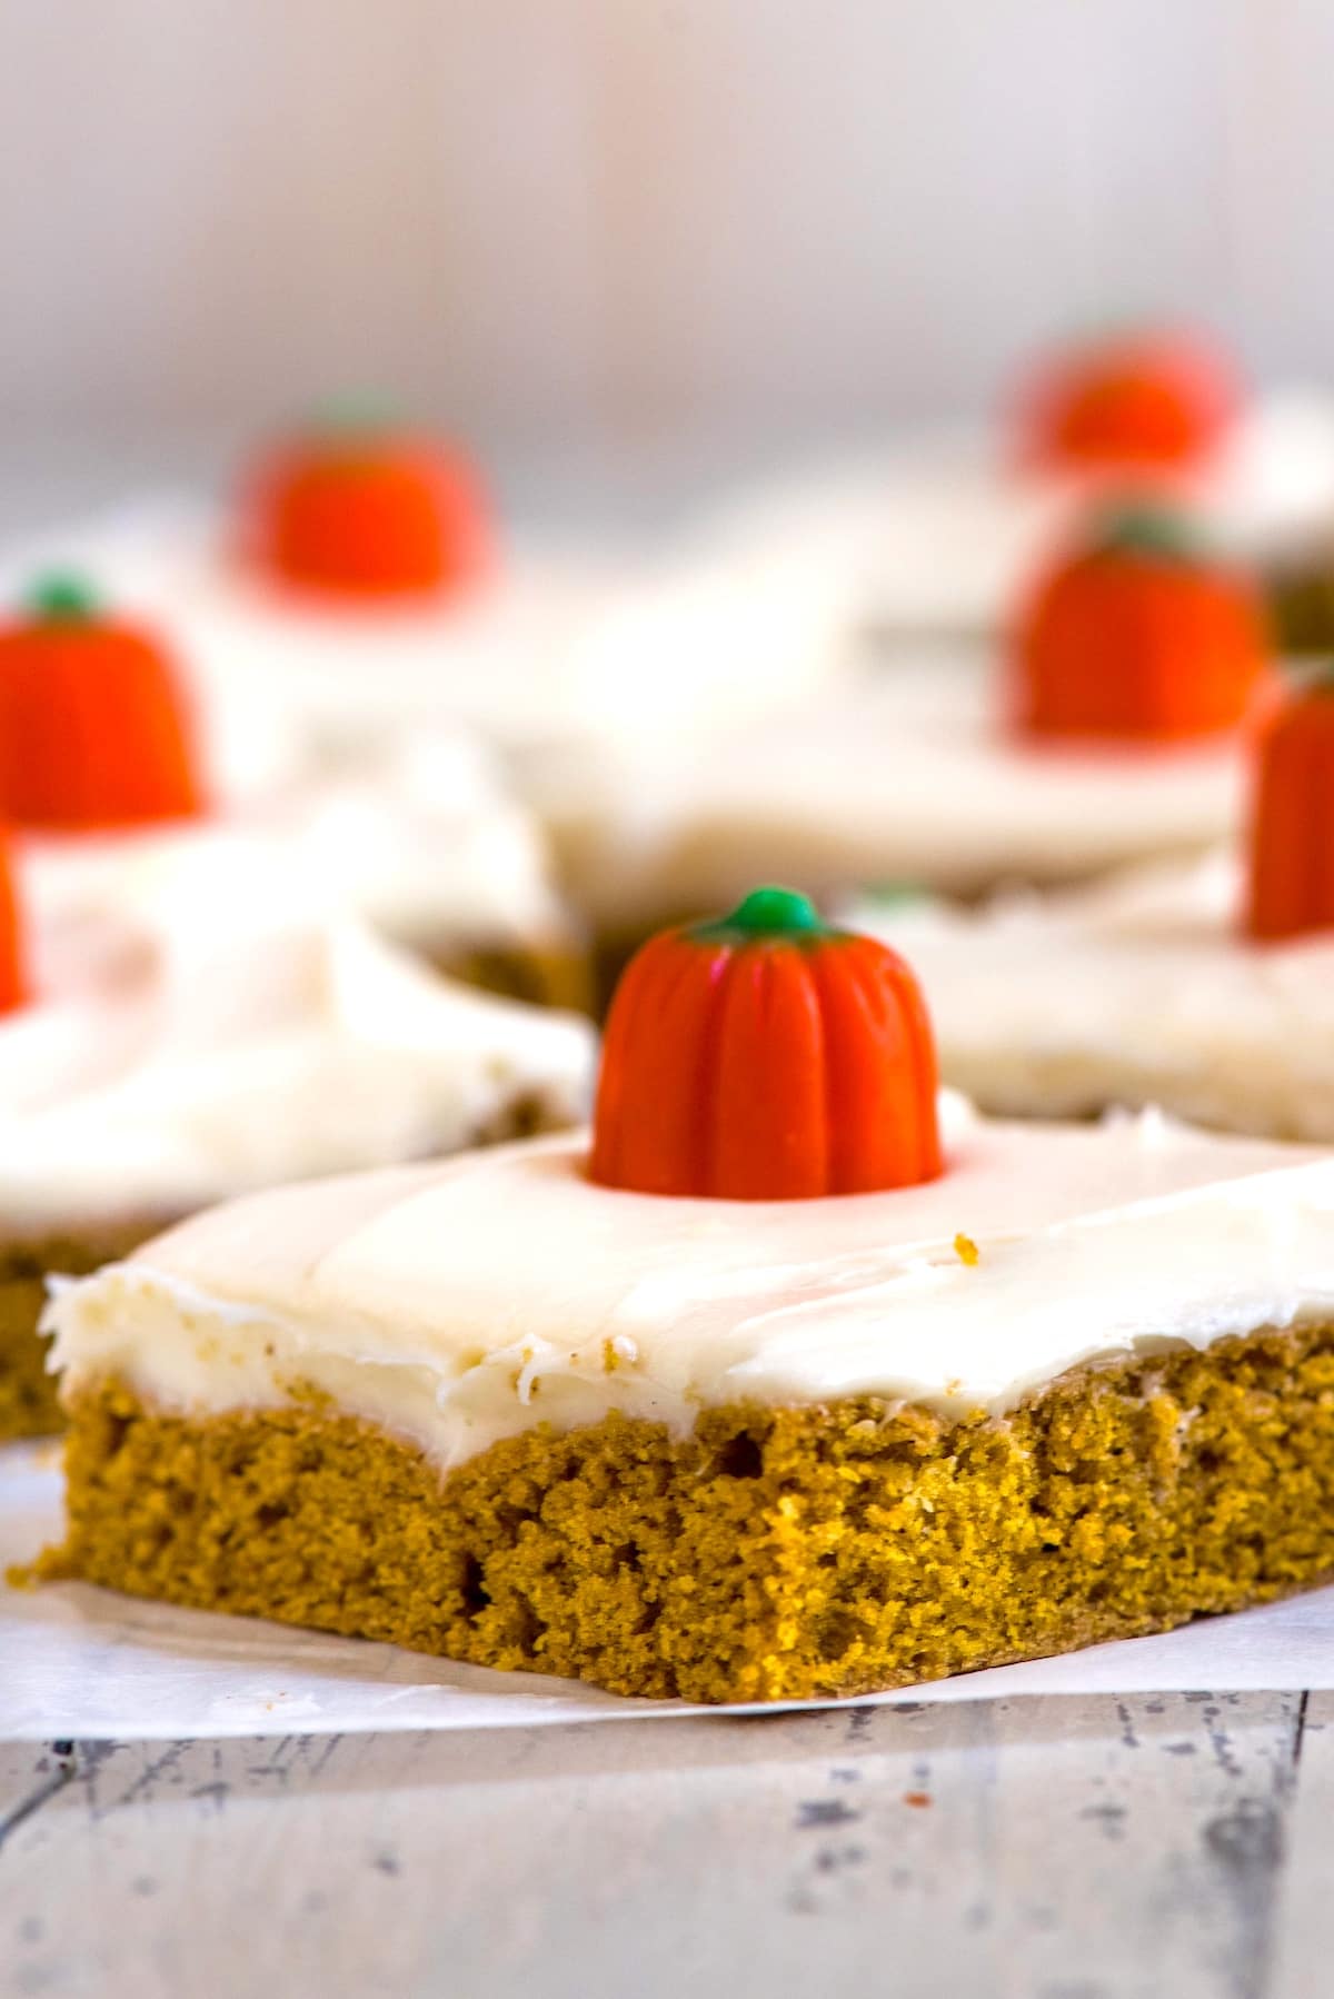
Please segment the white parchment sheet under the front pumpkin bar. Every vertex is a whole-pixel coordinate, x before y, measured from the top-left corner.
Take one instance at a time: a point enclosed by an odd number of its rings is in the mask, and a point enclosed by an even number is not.
[[[54,1447],[0,1451],[0,1571],[26,1561],[58,1529]],[[872,1699],[1302,1687],[1334,1687],[1334,1589],[1208,1617],[1164,1637]],[[136,1603],[82,1583],[0,1587],[0,1737],[8,1739],[500,1729],[756,1711],[628,1701],[566,1679],[490,1673],[394,1645]]]

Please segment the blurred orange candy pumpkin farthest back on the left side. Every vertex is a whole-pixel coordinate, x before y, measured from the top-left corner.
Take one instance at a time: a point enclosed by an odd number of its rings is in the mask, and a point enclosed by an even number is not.
[[[332,422],[280,446],[258,472],[246,526],[260,568],[328,596],[456,590],[492,560],[468,460],[376,422]]]

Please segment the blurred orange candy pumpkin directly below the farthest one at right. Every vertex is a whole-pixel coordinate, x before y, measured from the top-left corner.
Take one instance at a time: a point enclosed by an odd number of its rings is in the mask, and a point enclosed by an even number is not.
[[[1182,742],[1234,728],[1270,660],[1250,578],[1162,508],[1094,524],[1020,608],[1014,712],[1030,736]]]

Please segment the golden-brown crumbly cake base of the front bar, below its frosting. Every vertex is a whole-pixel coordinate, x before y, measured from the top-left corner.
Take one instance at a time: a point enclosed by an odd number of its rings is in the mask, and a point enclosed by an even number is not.
[[[192,1419],[108,1381],[66,1459],[38,1575],[616,1693],[856,1695],[1334,1573],[1334,1327],[1080,1369],[1004,1419],[610,1415],[448,1475],[318,1401]]]

